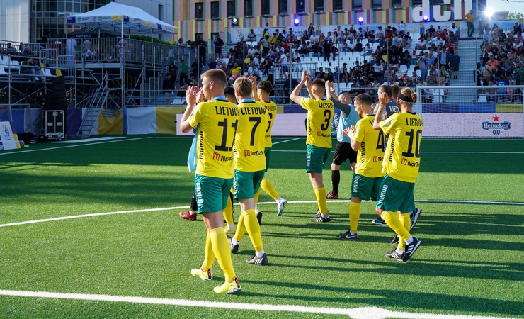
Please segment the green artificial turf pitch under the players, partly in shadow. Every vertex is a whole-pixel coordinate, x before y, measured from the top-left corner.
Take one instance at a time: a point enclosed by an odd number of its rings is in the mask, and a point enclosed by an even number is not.
[[[1,152],[0,225],[183,208],[0,227],[0,289],[524,318],[524,206],[450,202],[523,202],[524,140],[423,139],[415,198],[442,202],[416,203],[423,213],[412,233],[422,245],[406,263],[385,258],[394,249],[388,243],[393,233],[370,223],[376,217],[373,203],[361,206],[358,242],[338,238],[348,230],[347,202],[328,201],[333,222],[311,223],[317,204],[307,202],[314,193],[304,172],[304,139],[274,145],[266,177],[288,201],[304,203],[288,203],[280,217],[275,203],[259,206],[270,264],[246,264],[254,253],[246,234],[239,254],[232,255],[243,287],[232,296],[212,292],[224,280],[216,262],[215,280],[190,276],[203,261],[206,234],[201,216],[196,222],[178,217],[193,192],[186,167],[190,141],[128,136]],[[299,152],[287,152],[292,150]],[[347,199],[351,172],[347,163],[342,169],[339,194]],[[260,201],[273,200],[261,194]],[[234,211],[237,220],[239,207]],[[0,296],[4,318],[293,315],[344,317]]]

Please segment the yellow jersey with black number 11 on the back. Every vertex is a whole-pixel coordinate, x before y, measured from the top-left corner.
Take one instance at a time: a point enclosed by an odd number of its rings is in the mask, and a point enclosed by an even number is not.
[[[237,106],[227,100],[198,103],[188,121],[193,128],[198,125],[195,173],[206,177],[233,178],[233,143],[239,124]]]

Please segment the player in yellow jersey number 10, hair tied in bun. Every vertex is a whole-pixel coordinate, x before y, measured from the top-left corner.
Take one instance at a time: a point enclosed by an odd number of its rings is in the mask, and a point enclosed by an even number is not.
[[[421,245],[421,241],[409,233],[411,226],[409,212],[415,208],[413,193],[421,162],[423,130],[422,118],[413,112],[416,98],[416,93],[411,89],[401,89],[397,96],[401,113],[394,113],[384,121],[380,121],[388,102],[387,94],[380,92],[377,116],[373,122],[375,130],[389,133],[389,143],[391,143],[385,153],[384,163],[389,165],[389,168],[387,171],[382,171],[386,174],[380,185],[376,210],[387,225],[399,235],[397,249],[387,253],[386,257],[401,262],[411,258]]]

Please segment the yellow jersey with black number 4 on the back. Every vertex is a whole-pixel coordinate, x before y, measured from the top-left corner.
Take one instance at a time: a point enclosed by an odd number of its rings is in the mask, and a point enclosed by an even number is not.
[[[362,143],[357,153],[355,173],[364,177],[382,177],[382,159],[384,159],[384,132],[375,130],[374,115],[364,116],[355,125],[355,134],[351,138]]]

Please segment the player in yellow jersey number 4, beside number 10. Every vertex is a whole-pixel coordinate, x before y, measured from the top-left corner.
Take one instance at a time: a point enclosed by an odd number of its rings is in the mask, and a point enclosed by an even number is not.
[[[357,227],[360,218],[360,203],[370,198],[377,200],[382,182],[382,159],[384,157],[384,133],[373,129],[375,115],[371,109],[372,98],[368,94],[355,97],[355,111],[362,119],[355,126],[346,128],[344,135],[351,138],[351,147],[357,151],[357,164],[351,182],[351,203],[349,204],[349,230],[341,233],[346,240],[358,240]]]

